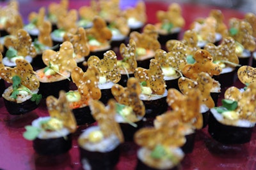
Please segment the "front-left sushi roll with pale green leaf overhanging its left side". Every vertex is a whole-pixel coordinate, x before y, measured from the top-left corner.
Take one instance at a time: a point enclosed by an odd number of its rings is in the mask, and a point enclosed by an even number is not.
[[[76,131],[76,120],[68,106],[65,92],[60,98],[46,99],[49,117],[39,117],[25,127],[24,138],[33,141],[33,148],[39,155],[60,155],[72,147],[72,133]]]

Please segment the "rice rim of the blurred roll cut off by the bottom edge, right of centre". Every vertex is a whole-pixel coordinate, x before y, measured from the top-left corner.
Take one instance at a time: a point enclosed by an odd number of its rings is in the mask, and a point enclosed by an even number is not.
[[[143,162],[149,167],[153,167],[155,169],[171,169],[172,167],[177,166],[177,163],[179,164],[179,162],[184,157],[184,153],[180,148],[170,148],[170,152],[173,154],[175,159],[178,160],[178,162],[172,162],[171,159],[157,159],[156,161],[150,156],[152,151],[148,150],[147,148],[140,148],[138,150],[137,156],[138,159],[141,160],[141,162]]]

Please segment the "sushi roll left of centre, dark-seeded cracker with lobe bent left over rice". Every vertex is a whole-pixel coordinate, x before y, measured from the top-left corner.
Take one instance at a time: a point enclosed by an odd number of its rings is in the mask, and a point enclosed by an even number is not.
[[[118,83],[121,79],[121,74],[117,68],[117,57],[112,50],[104,53],[104,58],[99,59],[97,56],[89,57],[88,67],[95,66],[99,70],[99,89],[101,91],[100,101],[106,104],[108,100],[113,98],[111,87]]]

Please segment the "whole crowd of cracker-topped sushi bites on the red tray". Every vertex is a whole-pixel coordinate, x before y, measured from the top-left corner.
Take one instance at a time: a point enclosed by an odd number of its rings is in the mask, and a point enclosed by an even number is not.
[[[61,8],[66,3],[54,5]],[[17,4],[12,1],[5,8],[17,10]],[[168,21],[169,13],[181,16],[179,4],[171,4],[168,10],[157,14],[165,17],[160,27],[170,31],[168,41],[160,41],[156,25],[146,24],[143,31],[129,34],[127,44],[118,46],[119,60],[109,45],[112,33],[99,16],[93,15],[90,28],[66,32],[60,47],[45,49],[40,57],[35,57],[35,46],[41,45],[33,43],[23,27],[4,37],[6,57],[0,55],[0,77],[8,85],[3,93],[6,109],[12,115],[25,114],[46,100],[49,117],[34,120],[24,132],[37,153],[68,152],[77,125],[95,122],[97,126],[86,128],[78,139],[84,169],[114,167],[124,141],[141,146],[137,169],[177,167],[184,153],[193,152],[196,129],[206,125],[220,143],[250,141],[256,121],[255,68],[242,64],[239,56],[247,51],[251,56],[255,50],[253,25],[248,22],[255,16],[233,18],[227,29],[221,11],[213,10],[211,16],[191,24],[179,41],[170,34],[182,25],[175,27],[175,21]],[[38,41],[51,44],[51,22],[41,23]],[[217,33],[221,40],[214,45]],[[109,48],[93,55],[90,46],[97,44]],[[41,64],[36,65],[36,58]],[[14,65],[8,66],[4,59]],[[236,77],[244,89],[229,87]],[[70,89],[71,82],[76,89]],[[225,87],[229,87],[225,99],[217,106]]]

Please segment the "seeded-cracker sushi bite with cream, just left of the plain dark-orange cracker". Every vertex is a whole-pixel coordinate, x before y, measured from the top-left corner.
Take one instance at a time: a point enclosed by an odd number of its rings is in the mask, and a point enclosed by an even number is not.
[[[155,59],[163,70],[166,89],[179,89],[178,80],[182,76],[183,67],[187,64],[187,52],[187,46],[179,41],[175,43],[169,52],[161,49],[156,50]]]

